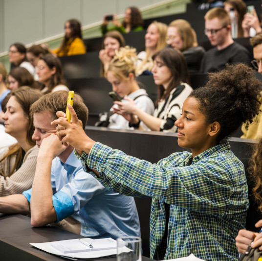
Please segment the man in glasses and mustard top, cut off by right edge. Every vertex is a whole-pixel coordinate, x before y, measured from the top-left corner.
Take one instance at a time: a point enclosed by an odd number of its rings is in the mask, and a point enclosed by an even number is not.
[[[254,36],[250,39],[250,44],[253,47],[254,60],[251,62],[253,67],[262,73],[262,33]],[[262,103],[262,97],[260,98]],[[262,105],[260,110],[262,110]],[[260,139],[262,138],[262,113],[260,113],[251,124],[248,125],[246,130],[246,124],[242,125],[241,131],[243,135],[241,138],[244,139]]]

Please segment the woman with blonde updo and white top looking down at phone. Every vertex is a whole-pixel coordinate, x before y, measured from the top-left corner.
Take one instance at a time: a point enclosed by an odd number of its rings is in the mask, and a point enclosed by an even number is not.
[[[152,115],[154,105],[146,90],[140,89],[135,79],[136,70],[136,52],[131,47],[121,47],[116,50],[115,56],[109,63],[106,77],[112,84],[113,93],[110,94],[114,100],[122,100],[124,97],[134,100],[136,106],[143,112]],[[125,102],[123,100],[123,102]],[[133,114],[126,114],[122,117],[118,114],[113,114],[118,106],[113,105],[109,113],[101,114],[100,120],[96,126],[104,126],[112,129],[134,129],[135,124],[132,124],[131,119],[136,118]],[[143,123],[141,122],[143,125]],[[144,128],[147,127],[144,125]]]

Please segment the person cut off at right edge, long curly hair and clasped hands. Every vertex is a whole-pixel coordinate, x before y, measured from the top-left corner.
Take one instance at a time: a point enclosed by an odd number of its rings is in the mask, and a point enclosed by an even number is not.
[[[260,139],[257,144],[249,169],[255,180],[255,187],[253,188],[255,200],[257,201],[260,213],[262,213],[262,139]],[[257,228],[261,226],[262,219],[255,224],[255,227]],[[246,229],[240,230],[238,236],[236,237],[236,245],[239,252],[244,253],[252,241],[253,248],[259,247],[259,249],[262,250],[262,233],[259,234]]]

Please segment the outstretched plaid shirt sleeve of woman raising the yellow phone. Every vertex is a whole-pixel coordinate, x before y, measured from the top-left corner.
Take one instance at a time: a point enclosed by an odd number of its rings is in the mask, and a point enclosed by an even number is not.
[[[86,162],[98,170],[104,186],[113,182],[120,193],[131,188],[168,204],[222,216],[227,214],[228,207],[240,204],[234,195],[240,196],[241,186],[246,184],[243,180],[234,184],[238,180],[231,177],[232,173],[239,177],[243,172],[240,162],[215,154],[185,166],[186,158],[188,154],[174,153],[151,164],[97,142]],[[241,204],[245,204],[245,198]]]

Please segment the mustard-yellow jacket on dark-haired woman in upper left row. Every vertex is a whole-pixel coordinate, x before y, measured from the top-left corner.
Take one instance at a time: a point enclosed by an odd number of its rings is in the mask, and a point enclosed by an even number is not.
[[[74,40],[70,39],[66,43],[66,47],[63,50],[59,51],[59,49],[60,48],[53,50],[53,52],[56,53],[58,56],[86,53],[86,47],[83,40],[80,38],[75,38]]]

